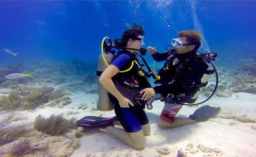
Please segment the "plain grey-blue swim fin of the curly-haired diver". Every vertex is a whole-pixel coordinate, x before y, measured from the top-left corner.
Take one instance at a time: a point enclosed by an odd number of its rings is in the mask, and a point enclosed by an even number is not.
[[[196,121],[206,121],[209,118],[213,118],[217,116],[217,114],[220,112],[220,107],[215,108],[211,107],[209,105],[202,106],[198,108],[194,114],[190,115],[189,118]]]

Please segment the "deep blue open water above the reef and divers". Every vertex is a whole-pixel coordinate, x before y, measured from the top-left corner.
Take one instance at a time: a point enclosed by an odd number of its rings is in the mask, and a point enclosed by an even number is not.
[[[35,59],[96,62],[103,37],[120,38],[134,20],[146,32],[144,47],[163,52],[178,31],[196,29],[205,39],[199,52],[218,52],[216,64],[232,67],[256,60],[255,7],[244,0],[0,1],[0,69]]]

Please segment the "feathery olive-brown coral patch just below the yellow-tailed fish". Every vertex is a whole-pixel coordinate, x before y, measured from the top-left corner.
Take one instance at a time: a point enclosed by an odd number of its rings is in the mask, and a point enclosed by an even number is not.
[[[38,88],[20,86],[11,90],[8,96],[0,96],[0,111],[4,110],[33,110],[49,101],[57,101],[62,105],[72,102],[64,88],[40,86]]]

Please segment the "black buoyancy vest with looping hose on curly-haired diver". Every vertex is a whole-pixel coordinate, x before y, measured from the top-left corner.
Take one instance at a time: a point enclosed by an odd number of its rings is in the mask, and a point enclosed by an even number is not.
[[[176,73],[173,76],[172,81],[168,84],[175,84],[177,80],[182,80],[184,78],[185,80],[183,81],[186,83],[179,86],[179,88],[177,88],[174,92],[162,94],[163,97],[160,100],[176,104],[187,103],[184,105],[198,105],[209,100],[215,93],[218,86],[218,73],[216,67],[211,61],[214,61],[216,56],[217,53],[201,53],[186,58],[176,69]],[[193,71],[191,69],[197,70]],[[211,96],[209,96],[209,98],[203,102],[193,104],[202,91],[202,88],[208,84],[208,78],[214,73],[216,74],[216,86]]]

